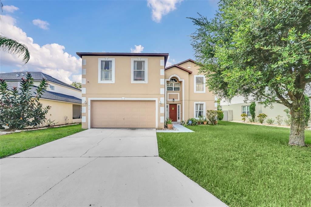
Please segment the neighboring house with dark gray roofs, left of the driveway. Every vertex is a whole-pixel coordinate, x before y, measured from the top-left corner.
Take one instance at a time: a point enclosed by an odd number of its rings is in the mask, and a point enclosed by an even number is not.
[[[34,78],[34,85],[38,86],[45,78],[48,87],[43,93],[40,103],[51,108],[45,116],[56,125],[81,122],[81,90],[59,81],[42,72],[30,72]],[[4,79],[10,87],[20,87],[21,78],[26,78],[26,72],[0,73],[0,79]],[[33,95],[35,90],[32,89]]]

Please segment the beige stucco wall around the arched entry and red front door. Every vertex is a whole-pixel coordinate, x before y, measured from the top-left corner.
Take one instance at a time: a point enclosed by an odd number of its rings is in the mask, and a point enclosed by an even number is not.
[[[179,65],[187,70],[192,71],[192,74],[189,74],[186,71],[183,71],[177,67],[172,67],[167,70],[165,70],[165,80],[169,79],[170,76],[176,75],[180,77],[180,79],[184,79],[184,97],[182,97],[183,94],[183,87],[181,86],[180,89],[180,101],[166,101],[166,104],[179,104],[183,103],[184,100],[184,116],[181,115],[181,118],[183,120],[187,120],[188,118],[194,117],[194,102],[205,102],[206,110],[216,110],[217,107],[215,107],[215,96],[208,90],[208,88],[205,88],[205,93],[194,93],[194,76],[200,75],[198,73],[199,67],[193,63],[193,62],[185,62],[181,65]],[[190,68],[188,68],[188,66]],[[170,93],[172,91],[167,91],[167,93]],[[174,92],[174,91],[173,91]],[[183,106],[181,105],[181,108]],[[181,113],[183,110],[181,110]]]

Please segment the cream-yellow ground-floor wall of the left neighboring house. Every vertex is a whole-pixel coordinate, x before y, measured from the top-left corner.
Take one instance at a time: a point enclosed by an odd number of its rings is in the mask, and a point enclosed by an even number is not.
[[[51,121],[55,120],[54,123],[56,125],[65,124],[65,116],[68,117],[67,123],[69,124],[81,122],[81,119],[72,119],[72,103],[53,101],[48,99],[40,99],[40,103],[43,105],[43,107],[48,105],[51,107],[45,117],[47,119],[51,119]]]

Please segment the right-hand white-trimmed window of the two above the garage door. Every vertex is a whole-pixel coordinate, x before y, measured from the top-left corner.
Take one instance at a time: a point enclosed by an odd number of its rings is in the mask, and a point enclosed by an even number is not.
[[[147,58],[131,58],[131,83],[148,83]]]

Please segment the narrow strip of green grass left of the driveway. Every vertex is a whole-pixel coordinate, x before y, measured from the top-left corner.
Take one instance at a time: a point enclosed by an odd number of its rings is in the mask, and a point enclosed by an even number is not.
[[[43,145],[83,131],[81,124],[34,131],[22,131],[0,136],[0,158]]]

